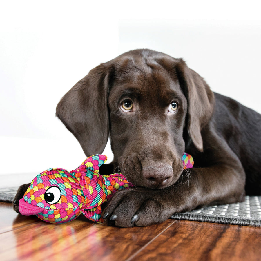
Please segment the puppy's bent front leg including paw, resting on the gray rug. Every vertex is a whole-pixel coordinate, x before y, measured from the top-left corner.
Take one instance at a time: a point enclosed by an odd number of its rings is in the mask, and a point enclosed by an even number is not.
[[[244,200],[245,172],[240,160],[224,140],[211,138],[216,142],[206,148],[209,167],[189,169],[189,182],[183,173],[178,182],[164,189],[135,187],[118,191],[105,208],[104,218],[120,227],[147,226],[197,206]]]

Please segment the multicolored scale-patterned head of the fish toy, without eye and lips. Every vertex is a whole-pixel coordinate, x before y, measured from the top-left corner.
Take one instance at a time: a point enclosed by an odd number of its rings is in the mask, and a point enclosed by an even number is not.
[[[48,204],[44,199],[51,186],[57,186],[61,191],[61,198],[56,204]],[[44,208],[37,214],[41,220],[56,224],[77,218],[85,203],[79,181],[68,171],[59,168],[50,168],[37,175],[24,194],[24,200]]]

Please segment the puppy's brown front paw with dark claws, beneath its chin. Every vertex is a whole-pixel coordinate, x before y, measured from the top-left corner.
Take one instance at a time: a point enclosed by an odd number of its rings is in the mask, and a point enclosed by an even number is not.
[[[119,227],[148,226],[169,217],[160,191],[145,188],[118,191],[103,211],[103,218]]]

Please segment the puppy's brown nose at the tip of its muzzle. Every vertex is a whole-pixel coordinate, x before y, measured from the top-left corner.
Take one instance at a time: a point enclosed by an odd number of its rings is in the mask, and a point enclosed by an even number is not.
[[[153,189],[166,187],[173,176],[172,166],[160,164],[158,166],[148,166],[142,169],[146,184]]]

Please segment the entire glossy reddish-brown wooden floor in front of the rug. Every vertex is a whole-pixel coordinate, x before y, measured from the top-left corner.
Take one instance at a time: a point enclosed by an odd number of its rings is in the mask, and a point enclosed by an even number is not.
[[[261,228],[167,220],[148,227],[60,225],[0,203],[0,260],[261,260]]]

